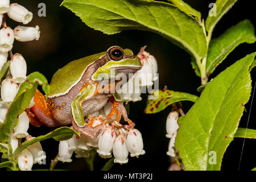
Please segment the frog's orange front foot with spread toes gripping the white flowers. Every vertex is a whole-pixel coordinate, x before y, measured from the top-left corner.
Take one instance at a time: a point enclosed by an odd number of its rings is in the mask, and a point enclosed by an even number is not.
[[[128,118],[127,111],[125,109],[125,106],[123,106],[122,102],[115,101],[113,96],[109,98],[109,101],[113,103],[113,106],[105,120],[109,121],[110,119],[112,119],[113,115],[116,114],[116,122],[119,122],[121,116],[123,116],[123,119],[125,119],[125,121],[128,122],[131,127],[134,127],[135,123],[133,123],[131,119]]]

